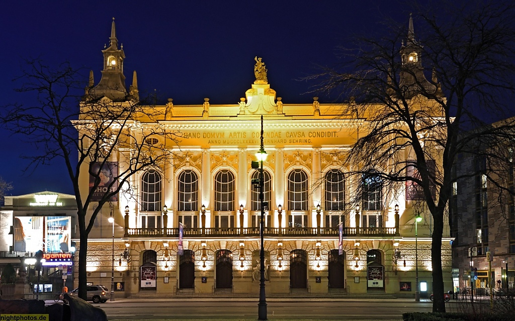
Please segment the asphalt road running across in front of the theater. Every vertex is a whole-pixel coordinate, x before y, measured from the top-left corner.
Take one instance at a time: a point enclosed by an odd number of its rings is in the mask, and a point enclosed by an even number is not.
[[[404,312],[430,312],[432,302],[406,299],[270,299],[268,319],[402,320]],[[257,319],[249,299],[118,299],[94,305],[111,319]]]

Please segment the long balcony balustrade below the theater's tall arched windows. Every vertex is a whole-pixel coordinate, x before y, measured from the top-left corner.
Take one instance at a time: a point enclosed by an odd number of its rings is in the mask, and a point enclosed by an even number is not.
[[[187,228],[183,230],[184,237],[259,237],[259,227],[220,227],[205,228],[205,234],[202,234],[202,228]],[[396,235],[395,227],[344,227],[342,234],[344,237],[392,237]],[[243,233],[242,233],[243,232]],[[265,237],[316,237],[316,227],[265,227],[263,235]],[[128,228],[128,237],[179,237],[179,228]],[[320,235],[324,237],[338,237],[339,230],[337,227],[321,227]]]

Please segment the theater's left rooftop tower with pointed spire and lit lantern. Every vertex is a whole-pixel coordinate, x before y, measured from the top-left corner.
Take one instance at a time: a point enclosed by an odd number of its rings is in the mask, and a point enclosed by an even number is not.
[[[91,98],[106,97],[112,101],[126,101],[127,89],[125,87],[124,76],[124,59],[125,53],[123,45],[118,48],[118,39],[116,38],[116,27],[113,22],[111,24],[111,37],[109,37],[109,47],[104,46],[102,54],[104,55],[104,70],[102,70],[102,78],[100,82],[89,90],[88,96]],[[90,76],[90,86],[93,77]],[[137,85],[136,85],[137,89]]]

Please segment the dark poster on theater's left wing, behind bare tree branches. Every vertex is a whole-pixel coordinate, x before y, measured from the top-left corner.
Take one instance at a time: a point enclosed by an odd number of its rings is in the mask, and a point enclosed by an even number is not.
[[[98,173],[100,183],[93,192],[91,200],[93,202],[98,202],[106,193],[108,193],[108,190],[115,191],[118,188],[118,181],[116,180],[116,177],[118,177],[118,162],[106,162],[104,165],[101,165],[101,163],[95,163],[93,164],[92,171],[94,173]],[[90,175],[90,191],[95,185],[95,179],[95,176]],[[117,202],[118,194],[112,195],[109,201]]]

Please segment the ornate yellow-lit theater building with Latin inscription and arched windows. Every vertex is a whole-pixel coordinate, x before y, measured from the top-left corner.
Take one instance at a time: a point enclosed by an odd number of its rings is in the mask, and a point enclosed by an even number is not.
[[[95,89],[123,104],[130,93],[137,94],[138,85],[134,74],[125,96],[110,89],[125,90],[125,55],[118,49],[114,21],[110,39]],[[178,143],[158,135],[146,138],[151,145],[166,144],[169,166],[135,175],[136,192],[120,192],[111,209],[102,209],[88,243],[88,282],[109,288],[114,261],[117,296],[257,295],[264,204],[267,293],[413,296],[416,269],[422,296],[430,292],[431,216],[423,216],[416,237],[406,191],[394,199],[379,179],[352,182],[349,169],[341,166],[344,156],[337,151],[353,144],[358,120],[341,116],[339,105],[319,103],[317,97],[306,104],[283,103],[268,83],[261,58],[255,59],[254,74],[238,104],[214,105],[205,98],[199,105],[174,105],[168,99],[155,106],[159,126],[181,137]],[[138,130],[147,126],[156,123],[140,119]],[[268,157],[260,177],[261,169],[251,163],[262,141]],[[119,152],[110,162],[123,157]],[[88,180],[82,177],[84,189]],[[263,200],[256,182],[263,183]],[[357,188],[363,189],[363,200],[350,206]],[[444,235],[444,282],[451,289],[447,229]]]

